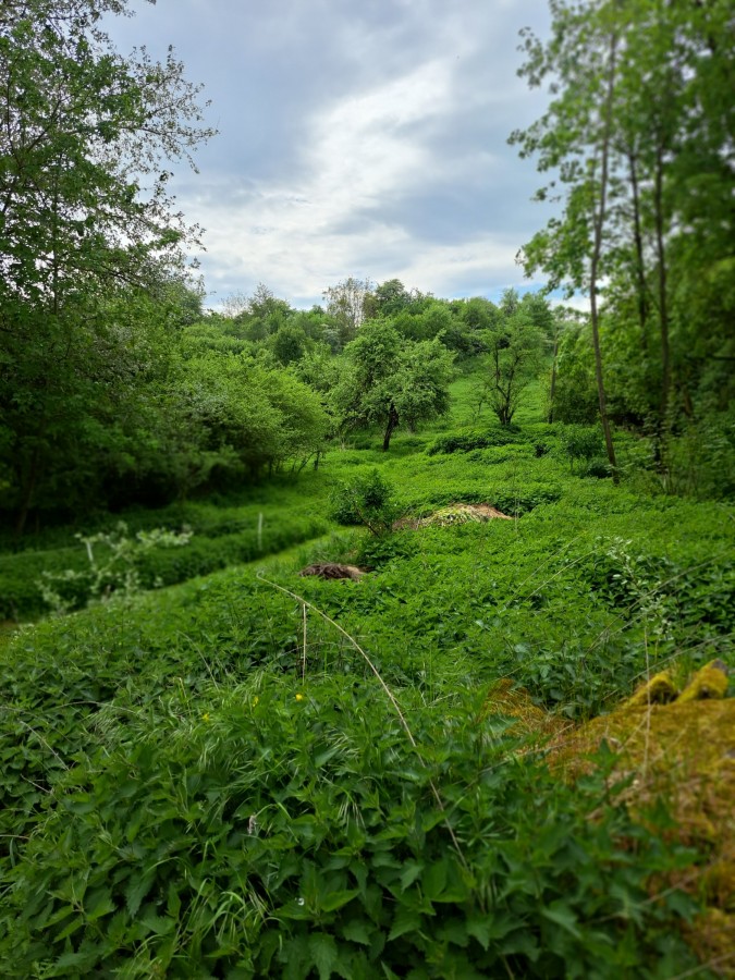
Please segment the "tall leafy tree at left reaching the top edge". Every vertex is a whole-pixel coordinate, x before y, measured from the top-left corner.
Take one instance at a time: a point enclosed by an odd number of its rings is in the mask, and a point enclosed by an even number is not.
[[[211,131],[171,50],[114,51],[100,19],[126,7],[7,0],[0,15],[0,412],[19,534],[56,440],[127,377],[110,303],[164,292],[196,236],[163,164],[192,162]]]

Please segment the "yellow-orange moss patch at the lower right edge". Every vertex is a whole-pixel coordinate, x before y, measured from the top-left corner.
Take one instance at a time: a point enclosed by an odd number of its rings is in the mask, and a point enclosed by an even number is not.
[[[657,800],[665,801],[675,821],[672,836],[708,859],[694,874],[663,886],[678,885],[703,903],[687,939],[702,961],[735,976],[735,700],[724,698],[726,689],[718,661],[698,671],[679,695],[660,674],[611,714],[565,736],[554,765],[575,776],[607,742],[618,754],[615,772],[632,777],[626,800],[640,819]],[[660,702],[672,693],[675,700]]]

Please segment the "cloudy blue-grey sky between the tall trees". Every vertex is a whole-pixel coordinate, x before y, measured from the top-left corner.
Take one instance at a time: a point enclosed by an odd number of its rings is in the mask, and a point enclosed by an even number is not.
[[[258,283],[295,307],[347,277],[454,298],[538,287],[518,248],[550,212],[507,136],[544,110],[516,76],[547,0],[133,0],[121,53],[169,45],[219,134],[171,189],[205,229],[217,308]]]

